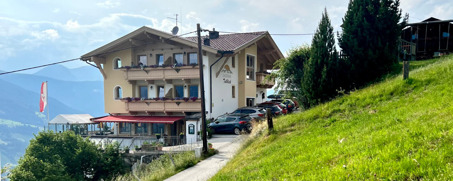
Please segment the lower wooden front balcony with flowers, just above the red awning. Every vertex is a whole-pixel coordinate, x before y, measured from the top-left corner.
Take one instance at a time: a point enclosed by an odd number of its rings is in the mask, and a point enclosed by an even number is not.
[[[201,100],[121,100],[124,102],[124,108],[129,113],[133,114],[137,111],[146,112],[149,115],[156,111],[164,112],[171,115],[172,112],[193,112],[201,111]]]

